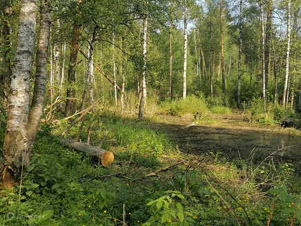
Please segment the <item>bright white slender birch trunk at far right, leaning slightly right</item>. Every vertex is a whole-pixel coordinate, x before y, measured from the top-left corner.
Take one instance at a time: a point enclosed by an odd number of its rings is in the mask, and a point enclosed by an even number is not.
[[[287,102],[287,90],[288,90],[288,83],[289,83],[289,53],[291,50],[291,0],[288,3],[287,9],[287,59],[286,59],[286,66],[285,66],[285,76],[284,76],[284,88],[282,92],[282,106],[286,107]]]

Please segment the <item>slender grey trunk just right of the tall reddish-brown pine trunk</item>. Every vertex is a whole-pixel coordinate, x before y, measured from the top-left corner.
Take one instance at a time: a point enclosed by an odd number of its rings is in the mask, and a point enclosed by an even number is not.
[[[242,90],[242,3],[243,1],[240,0],[240,32],[239,32],[239,39],[240,45],[238,49],[238,79],[237,79],[237,105],[240,107],[240,94]]]

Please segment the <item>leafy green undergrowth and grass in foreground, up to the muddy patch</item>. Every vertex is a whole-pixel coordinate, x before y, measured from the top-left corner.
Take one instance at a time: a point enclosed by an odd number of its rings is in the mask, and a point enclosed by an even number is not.
[[[92,156],[62,147],[50,133],[59,129],[44,125],[21,187],[1,191],[1,225],[291,225],[300,220],[300,186],[293,183],[291,163],[271,158],[229,163],[213,152],[184,155],[173,150],[166,134],[146,127],[147,121],[102,116],[98,123],[93,141],[108,131],[106,147],[115,162],[102,167]]]

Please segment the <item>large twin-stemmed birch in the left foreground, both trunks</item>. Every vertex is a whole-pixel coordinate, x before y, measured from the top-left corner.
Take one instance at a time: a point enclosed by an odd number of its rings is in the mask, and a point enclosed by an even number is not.
[[[12,187],[29,162],[32,143],[43,109],[43,95],[46,84],[47,47],[50,29],[50,14],[46,1],[41,1],[41,26],[37,50],[37,74],[34,98],[29,112],[30,72],[35,45],[37,0],[21,1],[17,50],[14,58],[10,83],[10,104],[6,135],[1,159],[1,180]]]

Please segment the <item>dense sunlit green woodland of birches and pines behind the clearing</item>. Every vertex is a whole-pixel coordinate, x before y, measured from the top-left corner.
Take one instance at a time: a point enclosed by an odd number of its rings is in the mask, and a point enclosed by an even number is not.
[[[231,107],[260,97],[292,107],[300,89],[298,1],[48,1],[48,5],[51,32],[46,104],[59,96],[63,101],[56,111],[65,116],[81,108],[85,88],[90,90],[90,99],[115,98],[116,105],[122,94],[138,96],[142,92],[142,21],[146,16],[146,88],[159,100],[183,96],[184,12],[188,21],[188,95]],[[1,2],[3,110],[18,13],[19,1]],[[85,56],[93,58],[98,69],[93,70]],[[66,97],[72,98],[67,100],[68,107]]]

